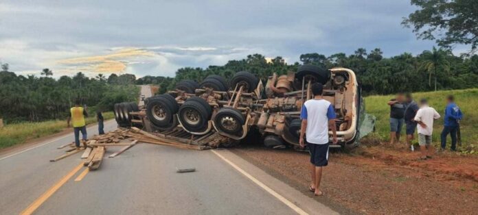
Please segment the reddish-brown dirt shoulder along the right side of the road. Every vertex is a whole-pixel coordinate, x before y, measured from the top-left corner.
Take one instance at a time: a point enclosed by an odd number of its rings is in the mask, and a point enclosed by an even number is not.
[[[306,152],[271,150],[242,144],[232,151],[269,174],[307,193]],[[440,153],[418,160],[405,144],[361,145],[350,153],[331,153],[317,201],[346,207],[352,214],[476,214],[478,156]]]

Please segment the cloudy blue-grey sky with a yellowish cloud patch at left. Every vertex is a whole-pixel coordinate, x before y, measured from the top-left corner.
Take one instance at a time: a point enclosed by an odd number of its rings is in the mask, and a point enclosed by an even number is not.
[[[0,62],[19,75],[174,77],[253,53],[418,54],[435,43],[400,23],[408,0],[0,1]]]

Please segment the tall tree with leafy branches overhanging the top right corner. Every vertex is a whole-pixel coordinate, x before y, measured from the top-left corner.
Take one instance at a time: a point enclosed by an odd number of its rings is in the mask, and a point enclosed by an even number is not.
[[[418,38],[436,40],[440,47],[470,45],[478,48],[477,0],[411,0],[419,10],[404,18],[402,25],[411,27]]]

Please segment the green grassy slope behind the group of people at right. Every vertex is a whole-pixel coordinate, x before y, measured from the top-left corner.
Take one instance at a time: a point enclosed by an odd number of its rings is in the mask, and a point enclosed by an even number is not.
[[[470,144],[470,147],[478,145],[478,88],[466,89],[466,90],[442,90],[437,92],[417,92],[413,93],[413,98],[419,101],[422,98],[426,98],[429,101],[429,105],[435,108],[442,116],[440,119],[433,123],[433,143],[438,144],[440,142],[440,134],[443,128],[443,115],[446,106],[446,96],[453,94],[455,96],[455,102],[462,110],[464,118],[461,121],[460,128],[462,131],[462,144],[466,146]],[[394,95],[386,96],[369,96],[365,97],[365,110],[369,114],[376,116],[376,134],[372,136],[379,136],[380,140],[389,140],[389,114],[390,107],[387,105],[387,101],[393,98]],[[402,128],[402,140],[405,140],[405,126]],[[450,145],[450,138],[448,136],[448,148]],[[468,149],[470,150],[470,149]],[[477,151],[477,150],[475,150]]]

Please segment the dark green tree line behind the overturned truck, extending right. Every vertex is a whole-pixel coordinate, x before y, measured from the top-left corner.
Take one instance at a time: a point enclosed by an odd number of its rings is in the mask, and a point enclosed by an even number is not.
[[[315,64],[324,68],[352,69],[365,94],[478,87],[478,55],[455,56],[451,51],[435,47],[418,55],[402,53],[390,58],[383,57],[380,49],[367,52],[360,48],[352,55],[305,53],[299,56],[299,60],[300,62],[287,64],[281,57],[266,59],[264,55],[253,54],[242,60],[229,60],[224,66],[179,68],[175,77],[147,75],[137,79],[136,83],[157,84],[162,93],[172,90],[183,79],[201,81],[212,74],[230,79],[238,71],[249,71],[266,81],[274,72],[282,75],[287,71],[297,71],[301,64]]]

